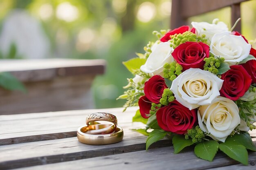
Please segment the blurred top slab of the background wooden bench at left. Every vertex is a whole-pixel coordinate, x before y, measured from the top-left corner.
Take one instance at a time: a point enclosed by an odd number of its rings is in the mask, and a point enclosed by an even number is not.
[[[63,76],[103,74],[105,66],[105,60],[1,60],[0,72],[11,72],[22,82],[37,82]]]

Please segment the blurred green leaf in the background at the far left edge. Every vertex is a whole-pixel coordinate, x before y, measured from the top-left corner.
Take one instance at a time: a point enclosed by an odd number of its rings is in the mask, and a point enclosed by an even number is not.
[[[25,86],[11,73],[2,72],[0,73],[0,86],[7,90],[18,90],[22,92],[26,92]]]

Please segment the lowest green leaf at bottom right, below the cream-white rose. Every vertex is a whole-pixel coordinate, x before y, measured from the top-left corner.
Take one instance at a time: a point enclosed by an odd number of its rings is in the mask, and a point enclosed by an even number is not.
[[[232,159],[243,163],[244,165],[248,165],[248,152],[246,148],[242,145],[231,145],[221,143],[219,144],[219,148],[222,152],[224,152],[227,156]]]

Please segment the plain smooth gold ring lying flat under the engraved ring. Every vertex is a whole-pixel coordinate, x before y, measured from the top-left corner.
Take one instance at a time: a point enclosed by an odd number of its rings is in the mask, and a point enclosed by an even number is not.
[[[121,127],[117,126],[113,133],[105,135],[91,135],[87,134],[90,129],[101,129],[108,127],[109,124],[94,124],[90,126],[81,126],[77,129],[77,139],[83,144],[89,145],[107,145],[115,144],[122,141],[124,138],[124,131]]]

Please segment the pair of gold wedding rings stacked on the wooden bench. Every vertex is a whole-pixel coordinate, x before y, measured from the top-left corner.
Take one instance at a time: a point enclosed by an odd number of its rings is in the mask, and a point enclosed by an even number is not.
[[[97,121],[108,121],[100,124]],[[83,144],[107,145],[114,144],[124,137],[124,131],[117,126],[117,117],[110,113],[93,113],[86,117],[86,125],[77,129],[77,138]]]

